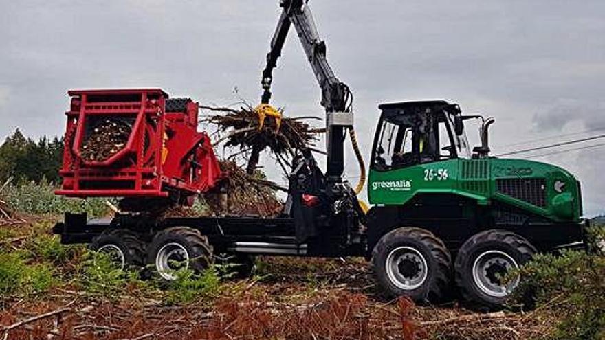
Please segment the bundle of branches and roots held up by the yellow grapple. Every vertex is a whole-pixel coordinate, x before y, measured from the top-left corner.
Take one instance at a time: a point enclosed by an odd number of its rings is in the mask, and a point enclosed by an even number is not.
[[[317,140],[317,134],[322,132],[303,122],[309,118],[318,119],[317,117],[283,117],[279,129],[273,117],[266,117],[263,128],[259,128],[259,116],[251,106],[243,106],[239,110],[208,106],[200,106],[200,108],[222,113],[210,115],[204,122],[216,125],[217,133],[224,135],[214,144],[226,140],[225,147],[239,148],[241,153],[249,152],[246,167],[248,174],[254,173],[259,161],[259,153],[267,148],[275,155],[285,171],[287,159],[294,156],[296,150],[312,146]]]

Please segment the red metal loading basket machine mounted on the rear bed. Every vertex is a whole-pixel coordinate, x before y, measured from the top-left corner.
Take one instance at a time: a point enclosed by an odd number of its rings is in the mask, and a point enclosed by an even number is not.
[[[56,194],[75,197],[175,197],[212,189],[221,170],[198,105],[161,89],[69,91],[63,177]],[[128,140],[107,159],[83,159],[83,145],[102,120],[129,124]],[[191,200],[186,200],[190,202]]]

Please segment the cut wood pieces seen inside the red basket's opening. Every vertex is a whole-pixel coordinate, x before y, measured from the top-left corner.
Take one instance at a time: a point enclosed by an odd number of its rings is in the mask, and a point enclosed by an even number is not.
[[[82,146],[85,161],[105,161],[126,146],[132,127],[120,120],[103,120],[96,124]]]

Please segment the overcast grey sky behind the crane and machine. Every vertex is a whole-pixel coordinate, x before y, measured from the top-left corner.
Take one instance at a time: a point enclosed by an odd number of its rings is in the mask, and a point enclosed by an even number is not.
[[[202,104],[256,102],[280,13],[278,0],[0,2],[1,140],[15,128],[60,135],[68,89],[162,87]],[[605,1],[309,4],[333,69],[353,89],[366,157],[381,102],[443,98],[492,115],[496,153],[605,133],[525,142],[605,127]],[[294,34],[278,64],[274,104],[322,116]],[[577,175],[591,216],[605,212],[604,156],[600,147],[538,160]]]

